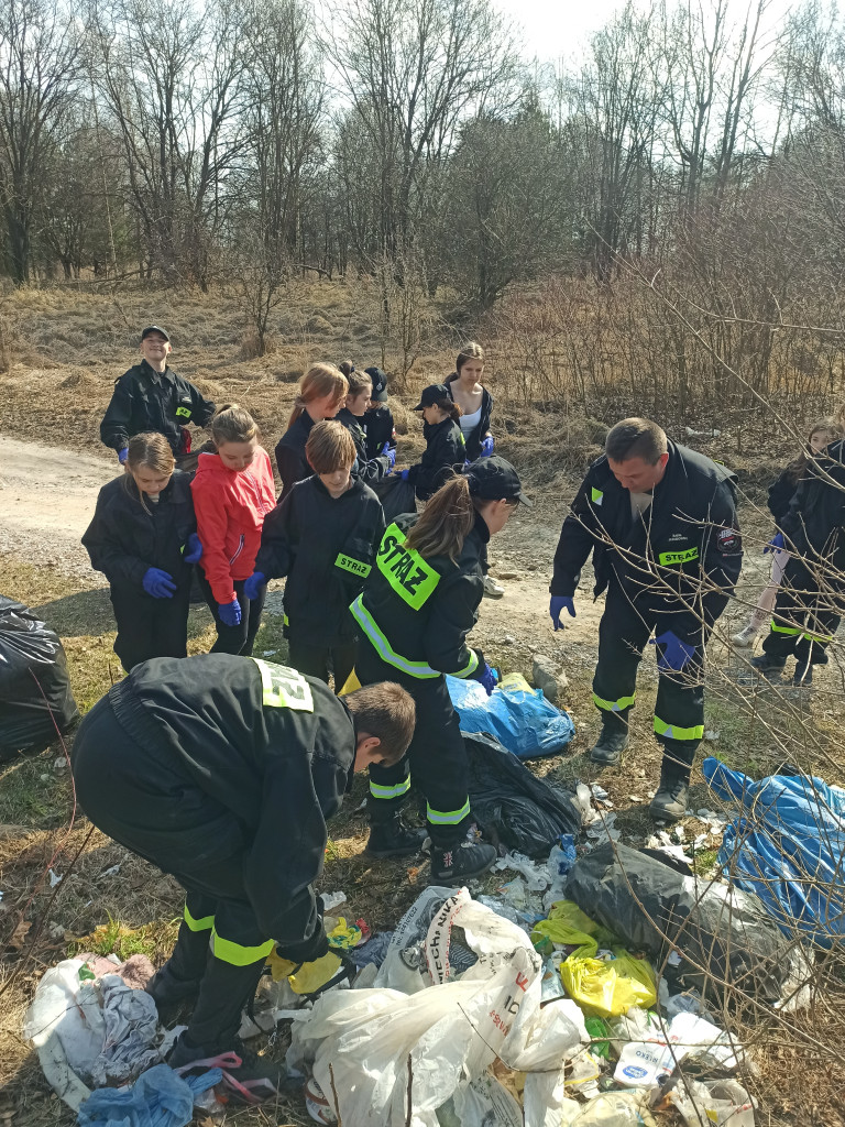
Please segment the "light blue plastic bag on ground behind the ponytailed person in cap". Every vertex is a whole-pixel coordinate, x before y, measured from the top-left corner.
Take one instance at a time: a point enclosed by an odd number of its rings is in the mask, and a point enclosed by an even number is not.
[[[557,755],[575,736],[571,717],[550,703],[540,689],[493,689],[488,696],[478,681],[447,676],[446,685],[461,730],[487,731],[521,760]]]

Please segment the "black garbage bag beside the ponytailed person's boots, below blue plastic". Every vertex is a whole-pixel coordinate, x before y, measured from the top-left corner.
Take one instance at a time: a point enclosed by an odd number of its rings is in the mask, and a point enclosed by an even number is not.
[[[463,738],[472,814],[488,840],[527,857],[546,858],[561,834],[580,833],[580,807],[572,795],[537,778],[492,736]]]

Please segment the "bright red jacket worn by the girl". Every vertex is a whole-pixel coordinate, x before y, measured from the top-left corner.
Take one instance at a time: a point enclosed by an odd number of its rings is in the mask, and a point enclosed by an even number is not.
[[[267,451],[256,450],[252,464],[229,470],[219,454],[201,454],[190,483],[197,532],[203,544],[199,566],[219,603],[234,598],[233,580],[248,579],[261,543],[261,525],[276,494]]]

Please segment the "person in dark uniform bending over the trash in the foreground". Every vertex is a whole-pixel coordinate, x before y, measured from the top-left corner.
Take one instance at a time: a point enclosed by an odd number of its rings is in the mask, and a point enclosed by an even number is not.
[[[169,1063],[230,1050],[274,941],[293,964],[329,950],[313,882],[326,822],[353,769],[398,762],[413,733],[399,685],[336,698],[295,669],[229,654],[136,665],[88,713],[72,752],[80,802],[104,833],[186,889],[157,1005],[196,995]],[[279,1074],[264,1061],[240,1083]]]

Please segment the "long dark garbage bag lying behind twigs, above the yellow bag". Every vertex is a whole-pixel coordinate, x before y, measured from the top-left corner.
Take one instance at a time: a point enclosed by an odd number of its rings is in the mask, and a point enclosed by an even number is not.
[[[644,950],[661,964],[677,950],[677,977],[686,988],[721,993],[727,984],[779,1001],[798,966],[792,944],[757,897],[667,861],[608,842],[576,862],[564,895],[632,951]]]

